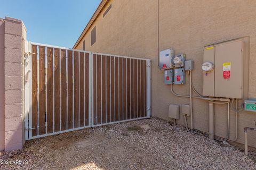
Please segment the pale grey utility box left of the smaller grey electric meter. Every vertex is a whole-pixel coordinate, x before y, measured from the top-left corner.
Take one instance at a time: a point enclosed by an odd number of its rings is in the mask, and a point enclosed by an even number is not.
[[[173,49],[165,49],[159,53],[159,66],[161,70],[172,69],[173,68]]]

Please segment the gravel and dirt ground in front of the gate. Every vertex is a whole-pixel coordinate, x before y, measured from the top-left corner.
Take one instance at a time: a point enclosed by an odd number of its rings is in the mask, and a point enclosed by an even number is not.
[[[254,152],[157,118],[30,140],[0,160],[28,161],[0,169],[256,169]]]

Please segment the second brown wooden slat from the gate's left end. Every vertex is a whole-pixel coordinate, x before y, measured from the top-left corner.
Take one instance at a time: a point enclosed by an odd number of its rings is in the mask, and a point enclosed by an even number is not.
[[[45,134],[45,47],[39,47],[39,132]]]

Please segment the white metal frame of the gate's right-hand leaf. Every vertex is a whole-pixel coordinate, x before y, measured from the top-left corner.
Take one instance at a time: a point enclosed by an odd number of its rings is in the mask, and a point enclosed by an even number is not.
[[[96,127],[96,126],[102,126],[102,125],[109,125],[109,124],[115,124],[115,123],[122,123],[122,122],[127,122],[127,121],[134,121],[134,120],[140,120],[140,119],[143,119],[143,118],[147,118],[147,117],[150,117],[151,116],[151,100],[150,100],[150,92],[151,92],[151,60],[149,60],[149,59],[145,59],[145,58],[137,58],[137,57],[127,57],[127,56],[121,56],[121,55],[112,55],[112,54],[105,54],[105,53],[94,53],[94,52],[92,52],[92,54],[91,54],[91,57],[93,58],[93,55],[105,55],[105,56],[111,56],[111,57],[121,57],[121,58],[130,58],[130,59],[135,59],[135,60],[143,60],[143,61],[146,61],[146,66],[147,66],[147,69],[146,69],[146,77],[147,77],[147,82],[146,82],[146,84],[147,84],[147,103],[146,103],[146,111],[147,111],[147,115],[145,116],[145,117],[138,117],[138,118],[131,118],[131,119],[127,119],[127,120],[122,120],[122,121],[114,121],[114,122],[111,122],[111,118],[110,118],[110,122],[108,122],[108,123],[101,123],[101,124],[94,124],[94,121],[93,121],[93,117],[94,117],[94,111],[93,111],[93,59],[91,60],[91,86],[92,86],[92,92],[91,92],[91,100],[92,100],[92,103],[91,103],[91,121],[92,121],[92,127]],[[115,60],[114,60],[115,61]],[[106,63],[107,63],[107,61],[106,61]],[[111,63],[111,62],[110,62]],[[97,64],[96,64],[97,65]],[[119,63],[118,63],[118,67],[119,67]],[[111,67],[110,67],[111,68]],[[107,67],[105,68],[106,70],[106,72],[107,72]],[[134,67],[133,67],[133,69],[134,69]],[[101,70],[101,72],[102,72],[102,70]],[[127,73],[127,67],[126,67],[126,73]],[[118,73],[119,74],[119,73]],[[101,74],[102,75],[102,74]],[[114,76],[115,77],[115,76]],[[119,75],[118,75],[118,77],[119,77]],[[110,78],[111,79],[111,78]],[[97,78],[96,78],[96,80],[97,80]],[[114,83],[115,84],[115,83]],[[111,86],[111,81],[110,81],[110,86]],[[95,87],[95,88],[97,88],[97,87]],[[101,87],[101,91],[102,91],[102,87]],[[102,95],[102,93],[101,93],[101,95]],[[115,96],[115,95],[114,95]],[[101,98],[101,100],[102,100],[102,98]],[[119,99],[118,99],[118,101],[119,101]],[[98,101],[97,101],[98,102]],[[111,102],[111,101],[110,101]],[[114,101],[115,102],[115,101]],[[127,96],[126,96],[126,102],[127,102]],[[101,101],[101,104],[102,104],[102,101]],[[111,105],[110,105],[111,106]],[[115,106],[114,106],[114,108],[115,108]],[[119,109],[118,109],[119,110]],[[96,114],[97,114],[97,112],[96,112]],[[102,112],[101,112],[101,117],[102,117]],[[97,121],[98,122],[98,121]]]

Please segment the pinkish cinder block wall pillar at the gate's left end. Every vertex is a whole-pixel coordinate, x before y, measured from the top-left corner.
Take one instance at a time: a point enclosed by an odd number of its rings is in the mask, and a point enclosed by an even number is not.
[[[0,19],[0,150],[23,146],[24,64],[21,20]]]

